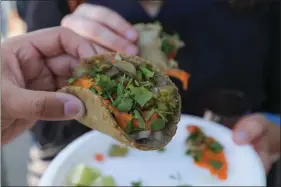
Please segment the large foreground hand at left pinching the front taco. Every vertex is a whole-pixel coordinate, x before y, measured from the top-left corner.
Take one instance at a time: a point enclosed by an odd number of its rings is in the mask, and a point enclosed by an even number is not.
[[[2,43],[2,144],[36,120],[69,120],[84,113],[82,102],[56,93],[79,59],[95,55],[91,43],[66,28],[44,29]]]

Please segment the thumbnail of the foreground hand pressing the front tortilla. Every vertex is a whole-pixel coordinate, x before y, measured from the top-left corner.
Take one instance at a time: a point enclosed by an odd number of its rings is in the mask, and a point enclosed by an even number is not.
[[[71,118],[78,118],[84,114],[82,102],[75,96],[59,93],[57,99],[64,104],[64,115]]]

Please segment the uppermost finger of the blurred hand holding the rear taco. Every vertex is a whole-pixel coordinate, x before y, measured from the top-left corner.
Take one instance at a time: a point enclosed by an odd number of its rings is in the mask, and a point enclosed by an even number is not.
[[[137,40],[138,33],[133,26],[118,13],[104,6],[82,4],[77,8],[75,14],[98,21],[124,36],[127,40],[132,42]]]

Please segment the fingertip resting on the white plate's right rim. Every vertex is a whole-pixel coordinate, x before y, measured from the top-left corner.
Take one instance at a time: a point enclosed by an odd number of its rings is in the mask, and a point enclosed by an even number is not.
[[[248,144],[262,137],[266,131],[266,119],[262,115],[249,115],[235,125],[233,139],[237,144]]]

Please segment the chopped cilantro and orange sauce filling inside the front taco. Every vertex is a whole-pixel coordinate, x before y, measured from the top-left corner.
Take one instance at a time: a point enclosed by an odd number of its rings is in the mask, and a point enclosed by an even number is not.
[[[136,65],[118,54],[114,59],[92,59],[88,66],[77,68],[69,85],[98,95],[121,129],[137,143],[145,143],[151,135],[161,138],[161,130],[179,105],[177,89],[152,65]]]

